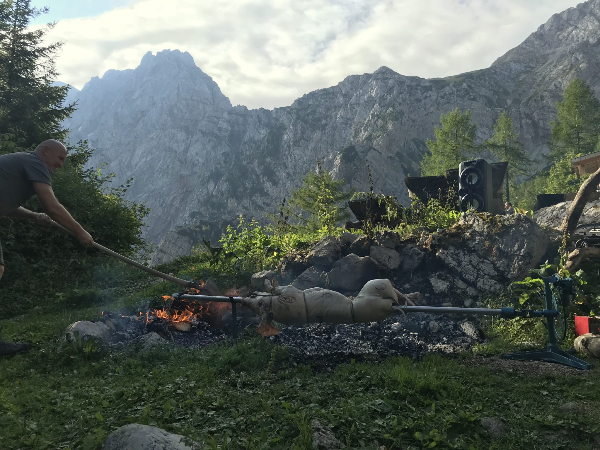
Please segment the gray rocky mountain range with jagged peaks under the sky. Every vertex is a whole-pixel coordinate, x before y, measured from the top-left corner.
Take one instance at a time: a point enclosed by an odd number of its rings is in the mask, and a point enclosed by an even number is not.
[[[472,110],[479,139],[508,110],[531,154],[545,152],[569,80],[600,91],[599,20],[600,0],[590,0],[488,68],[422,79],[381,67],[273,110],[232,107],[187,52],[148,52],[136,69],[109,70],[76,92],[79,110],[65,125],[72,141],[97,149],[92,164],[106,161],[118,183],[133,177],[127,197],[151,208],[147,237],[161,242],[160,263],[200,242],[208,222],[276,212],[317,159],[367,190],[366,158],[374,189],[407,203],[404,177],[418,175],[425,140],[455,107]]]

